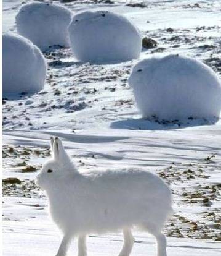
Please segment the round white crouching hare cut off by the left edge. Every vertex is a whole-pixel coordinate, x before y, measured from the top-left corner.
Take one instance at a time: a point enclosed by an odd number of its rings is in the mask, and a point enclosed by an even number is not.
[[[39,48],[20,35],[2,37],[3,93],[38,92],[44,87],[47,64]]]

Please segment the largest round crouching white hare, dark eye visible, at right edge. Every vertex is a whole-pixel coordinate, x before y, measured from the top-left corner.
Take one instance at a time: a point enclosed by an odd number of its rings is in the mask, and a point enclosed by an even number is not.
[[[134,66],[129,85],[145,118],[219,118],[221,82],[196,59],[173,54],[145,59]]]

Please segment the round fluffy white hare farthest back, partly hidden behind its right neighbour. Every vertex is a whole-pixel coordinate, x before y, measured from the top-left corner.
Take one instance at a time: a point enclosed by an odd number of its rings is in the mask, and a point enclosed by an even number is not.
[[[69,9],[58,4],[26,4],[16,16],[17,31],[42,51],[53,45],[69,47],[68,25],[72,15]]]

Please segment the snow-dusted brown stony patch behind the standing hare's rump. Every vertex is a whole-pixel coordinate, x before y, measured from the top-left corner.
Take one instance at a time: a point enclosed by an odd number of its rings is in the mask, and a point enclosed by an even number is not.
[[[199,213],[189,217],[174,213],[164,228],[167,236],[220,241],[221,210],[213,207],[213,204],[220,200],[221,184],[212,184],[207,174],[215,168],[215,164],[215,155],[212,153],[196,163],[172,163],[158,172],[167,184],[175,187],[172,189],[174,202],[182,207],[183,204],[189,207],[195,203],[202,207]],[[191,220],[193,216],[195,219]]]

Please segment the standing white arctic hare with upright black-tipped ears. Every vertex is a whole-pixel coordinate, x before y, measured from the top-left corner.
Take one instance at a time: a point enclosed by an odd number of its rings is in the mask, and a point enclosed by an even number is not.
[[[36,184],[46,190],[50,213],[64,236],[57,256],[78,236],[78,256],[86,256],[86,235],[123,230],[120,256],[129,256],[134,243],[131,229],[142,228],[156,237],[158,256],[166,256],[161,233],[172,212],[169,187],[155,174],[136,168],[78,172],[62,142],[51,138],[53,159],[44,164]]]

